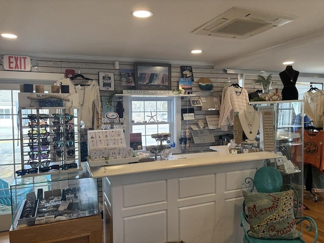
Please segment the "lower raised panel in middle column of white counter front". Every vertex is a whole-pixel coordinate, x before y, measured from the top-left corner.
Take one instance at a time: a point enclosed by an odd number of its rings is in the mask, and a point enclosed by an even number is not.
[[[179,208],[180,239],[186,243],[218,242],[215,237],[215,202]]]

